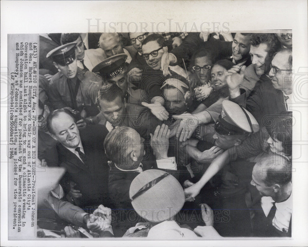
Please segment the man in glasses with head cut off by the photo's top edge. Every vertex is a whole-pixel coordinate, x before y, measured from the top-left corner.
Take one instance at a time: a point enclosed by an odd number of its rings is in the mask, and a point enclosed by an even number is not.
[[[128,76],[134,82],[139,82],[141,79],[142,70],[147,67],[147,62],[142,57],[142,42],[148,37],[149,33],[128,33],[129,40],[132,46],[136,49],[136,55],[128,67]]]

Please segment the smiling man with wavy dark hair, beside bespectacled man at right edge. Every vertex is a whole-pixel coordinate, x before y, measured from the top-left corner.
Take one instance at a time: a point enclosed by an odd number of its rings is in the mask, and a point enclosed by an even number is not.
[[[273,33],[254,33],[251,35],[250,57],[252,64],[245,69],[241,87],[246,94],[253,90],[255,84],[260,85],[269,81],[270,62],[274,54],[279,50],[280,44]]]

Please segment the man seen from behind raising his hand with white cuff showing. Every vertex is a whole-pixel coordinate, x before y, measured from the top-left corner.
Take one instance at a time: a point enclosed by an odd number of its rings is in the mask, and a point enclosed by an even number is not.
[[[157,167],[168,171],[178,178],[175,157],[168,157],[169,146],[168,126],[157,126],[151,135],[151,147],[154,151]],[[144,170],[151,169],[143,162],[147,156],[144,138],[136,130],[120,126],[111,130],[104,141],[104,149],[114,165],[109,171],[108,191],[115,204],[115,215],[121,219],[114,228],[115,236],[122,236],[125,231],[134,226],[141,219],[132,208],[129,197],[129,187],[134,178]]]

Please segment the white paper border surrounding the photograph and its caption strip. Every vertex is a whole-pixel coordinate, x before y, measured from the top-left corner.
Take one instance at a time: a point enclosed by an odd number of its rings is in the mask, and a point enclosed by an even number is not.
[[[86,19],[102,22],[174,22],[198,24],[229,22],[231,31],[293,30],[293,69],[307,64],[307,1],[1,1],[1,67],[7,64],[7,34],[87,32]],[[181,25],[182,26],[182,25]],[[161,26],[162,27],[162,26]],[[163,28],[162,28],[163,29]],[[95,31],[95,30],[91,30]],[[102,32],[103,30],[99,30]],[[119,30],[119,28],[117,29]],[[127,30],[123,30],[126,32]],[[175,30],[159,30],[175,31]],[[188,29],[188,31],[190,31]],[[6,97],[1,81],[1,100]],[[302,124],[307,124],[307,105],[300,109]],[[1,246],[307,246],[308,243],[308,158],[293,163],[294,212],[293,240],[248,241],[7,241],[7,119],[6,103],[1,101]],[[305,129],[306,130],[306,129]],[[308,132],[294,130],[293,140],[307,146]],[[301,138],[301,139],[300,139]],[[308,146],[307,146],[308,147]],[[308,150],[306,148],[306,150]],[[238,238],[242,239],[242,238]]]

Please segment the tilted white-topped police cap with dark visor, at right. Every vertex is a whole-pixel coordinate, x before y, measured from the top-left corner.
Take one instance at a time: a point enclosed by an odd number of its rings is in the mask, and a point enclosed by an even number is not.
[[[241,135],[259,131],[259,125],[241,105],[225,100],[222,102],[221,115],[215,123],[215,131],[222,135]]]

